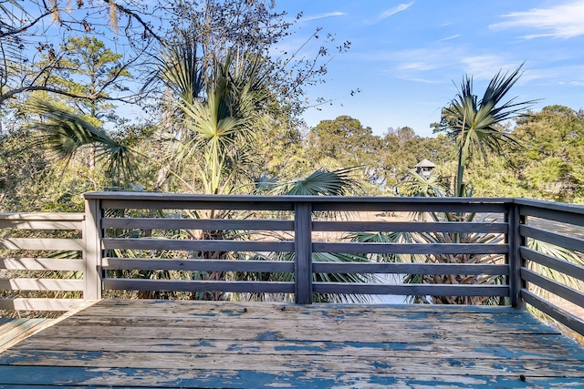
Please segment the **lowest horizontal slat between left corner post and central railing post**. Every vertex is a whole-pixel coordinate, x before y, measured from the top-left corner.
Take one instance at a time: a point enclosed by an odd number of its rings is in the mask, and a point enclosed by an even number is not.
[[[294,282],[214,282],[112,279],[103,280],[106,290],[166,291],[166,292],[244,292],[293,293]]]

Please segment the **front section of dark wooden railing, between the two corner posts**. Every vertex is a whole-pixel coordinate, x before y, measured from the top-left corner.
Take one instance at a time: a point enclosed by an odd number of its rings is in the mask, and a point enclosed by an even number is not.
[[[93,288],[90,298],[108,290],[171,292],[249,292],[290,293],[298,303],[312,302],[317,294],[398,294],[509,297],[509,223],[506,221],[513,200],[497,199],[420,199],[420,198],[346,198],[346,197],[257,197],[257,196],[193,196],[145,193],[88,193],[88,222],[99,225],[95,230],[96,253],[93,260],[98,274],[105,274]],[[153,211],[157,210],[157,211]],[[159,210],[165,210],[160,212]],[[197,210],[198,217],[193,213]],[[350,212],[449,212],[453,217],[481,212],[495,215],[498,221],[376,221],[339,220]],[[190,213],[185,218],[185,213]],[[237,213],[219,219],[214,215]],[[211,215],[211,219],[208,219]],[[334,216],[337,216],[336,218]],[[156,234],[151,231],[158,231]],[[173,239],[177,231],[198,231],[206,239],[184,236]],[[208,233],[211,231],[212,233]],[[220,233],[216,233],[220,231]],[[277,234],[273,232],[277,231]],[[493,234],[492,242],[355,242],[343,239],[348,233],[375,232],[443,232],[449,236]],[[203,234],[201,234],[201,232]],[[214,233],[215,232],[215,233]],[[245,240],[224,236],[242,236]],[[187,234],[188,235],[188,234]],[[186,239],[184,239],[186,238]],[[332,241],[331,241],[332,240]],[[99,243],[101,247],[99,247]],[[91,249],[89,249],[91,250]],[[147,258],[130,258],[136,251]],[[180,256],[176,251],[186,251]],[[196,252],[197,258],[190,255]],[[246,261],[219,259],[225,252],[238,252]],[[165,253],[166,259],[154,261]],[[263,253],[263,254],[262,254]],[[291,261],[266,260],[271,257]],[[451,261],[433,263],[395,263],[391,261],[318,261],[328,254],[358,253],[385,256],[408,254],[443,256]],[[259,255],[258,255],[259,254]],[[320,254],[320,255],[318,255]],[[458,263],[456,256],[483,258],[482,261]],[[169,257],[179,256],[172,259]],[[263,257],[263,258],[262,258]],[[260,259],[261,258],[261,259]],[[313,258],[316,261],[313,261]],[[116,271],[215,271],[282,274],[280,280],[163,280],[118,278]],[[289,276],[286,276],[286,273]],[[329,274],[452,274],[502,276],[503,282],[422,284],[379,282],[333,282]],[[150,275],[152,273],[149,273]],[[322,276],[322,275],[326,276]],[[319,276],[320,275],[320,276]],[[335,278],[335,277],[332,277]],[[340,277],[337,277],[339,280]],[[363,281],[372,280],[367,276]],[[102,288],[99,288],[99,285]]]

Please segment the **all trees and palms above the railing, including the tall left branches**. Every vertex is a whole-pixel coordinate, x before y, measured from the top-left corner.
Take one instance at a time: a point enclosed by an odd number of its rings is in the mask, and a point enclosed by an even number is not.
[[[488,119],[501,103],[489,90],[505,96],[520,68],[499,72],[478,107],[465,107],[467,77],[433,138],[374,135],[348,116],[306,130],[304,89],[350,43],[317,29],[278,49],[302,15],[264,1],[77,5],[0,7],[0,210],[82,210],[79,194],[99,189],[407,194],[422,159],[436,164],[434,194],[584,201],[581,110]],[[318,55],[298,56],[316,41]]]

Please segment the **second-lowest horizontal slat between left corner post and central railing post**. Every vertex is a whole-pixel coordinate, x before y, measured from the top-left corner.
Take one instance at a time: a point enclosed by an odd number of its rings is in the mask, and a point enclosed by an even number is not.
[[[293,272],[294,262],[104,258],[102,267],[106,270]]]

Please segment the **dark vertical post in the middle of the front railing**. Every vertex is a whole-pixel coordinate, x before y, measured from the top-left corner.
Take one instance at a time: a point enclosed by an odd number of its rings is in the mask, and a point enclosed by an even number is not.
[[[312,303],[312,204],[294,204],[294,300]]]

